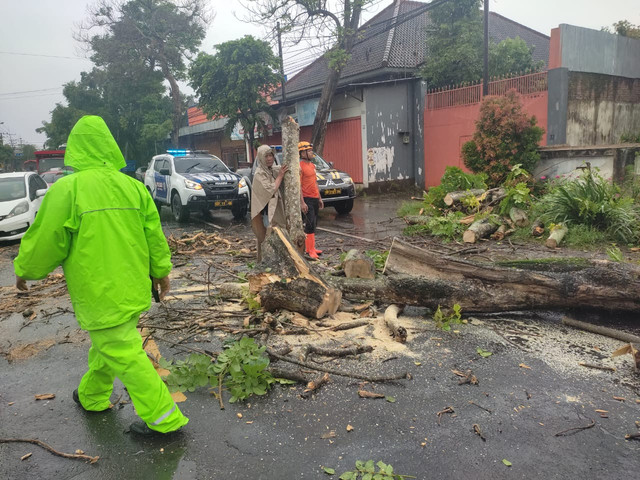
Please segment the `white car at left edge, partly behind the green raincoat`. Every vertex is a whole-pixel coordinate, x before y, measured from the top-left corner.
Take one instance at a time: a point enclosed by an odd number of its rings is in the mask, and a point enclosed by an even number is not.
[[[47,188],[47,182],[35,172],[0,173],[0,241],[22,238]]]

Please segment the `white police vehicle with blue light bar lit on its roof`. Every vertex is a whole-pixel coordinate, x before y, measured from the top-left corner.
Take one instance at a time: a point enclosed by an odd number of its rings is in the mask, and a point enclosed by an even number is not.
[[[176,221],[191,212],[229,209],[237,220],[247,215],[249,189],[242,176],[233,173],[215,155],[189,150],[167,150],[156,155],[145,172],[144,184],[158,210],[171,207]]]

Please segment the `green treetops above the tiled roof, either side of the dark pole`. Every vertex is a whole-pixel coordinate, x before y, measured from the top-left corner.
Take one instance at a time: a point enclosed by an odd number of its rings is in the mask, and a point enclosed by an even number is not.
[[[427,59],[420,70],[429,88],[446,87],[482,78],[484,27],[480,0],[447,2],[431,11]],[[520,37],[489,44],[489,75],[538,71],[533,50]]]

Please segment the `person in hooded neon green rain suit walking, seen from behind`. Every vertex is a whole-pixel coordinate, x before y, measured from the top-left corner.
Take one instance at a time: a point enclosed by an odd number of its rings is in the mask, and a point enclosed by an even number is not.
[[[69,134],[64,164],[14,261],[16,287],[62,265],[80,327],[89,332],[89,370],[74,400],[87,411],[111,407],[118,377],[143,420],[142,435],[169,433],[189,421],[142,348],[137,329],[151,306],[151,279],[164,298],[171,254],[156,206],[139,181],[119,172],[124,157],[102,118],[85,116]]]

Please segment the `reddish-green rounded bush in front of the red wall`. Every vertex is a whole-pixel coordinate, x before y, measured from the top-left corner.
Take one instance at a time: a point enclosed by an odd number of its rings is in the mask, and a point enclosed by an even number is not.
[[[464,164],[472,172],[486,173],[490,186],[498,186],[516,164],[533,171],[543,133],[536,118],[524,112],[515,90],[485,97],[473,139],[462,146]]]

